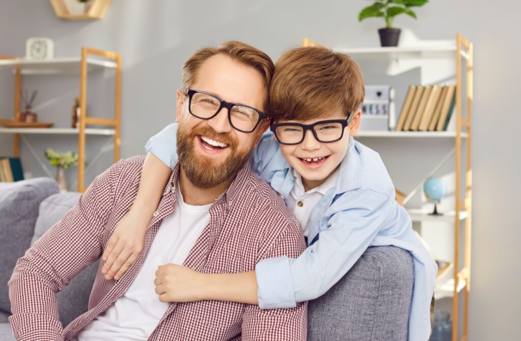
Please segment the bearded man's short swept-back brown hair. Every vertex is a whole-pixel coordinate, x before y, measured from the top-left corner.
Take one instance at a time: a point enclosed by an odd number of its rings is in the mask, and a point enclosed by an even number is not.
[[[260,72],[264,78],[266,92],[268,91],[275,70],[273,61],[263,51],[237,41],[228,41],[222,43],[219,47],[204,47],[195,51],[190,58],[184,62],[182,88],[189,89],[190,86],[195,83],[197,71],[201,68],[201,64],[203,64],[208,58],[218,54],[224,54],[233,60],[248,65]],[[267,108],[268,101],[269,95],[267,94],[264,103],[265,109]]]

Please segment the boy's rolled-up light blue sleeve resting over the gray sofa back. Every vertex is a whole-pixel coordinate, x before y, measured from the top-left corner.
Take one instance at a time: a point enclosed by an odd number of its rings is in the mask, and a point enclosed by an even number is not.
[[[259,307],[295,307],[326,293],[362,256],[394,203],[388,194],[372,190],[344,193],[339,200],[350,208],[326,219],[327,229],[298,258],[278,257],[256,265]]]

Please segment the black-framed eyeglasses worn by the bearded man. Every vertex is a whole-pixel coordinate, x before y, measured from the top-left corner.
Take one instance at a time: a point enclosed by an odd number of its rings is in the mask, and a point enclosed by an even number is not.
[[[224,99],[205,91],[187,89],[183,91],[189,96],[188,111],[198,119],[212,119],[222,108],[228,109],[228,121],[239,132],[251,133],[258,124],[268,118],[261,110],[244,104],[229,103]]]

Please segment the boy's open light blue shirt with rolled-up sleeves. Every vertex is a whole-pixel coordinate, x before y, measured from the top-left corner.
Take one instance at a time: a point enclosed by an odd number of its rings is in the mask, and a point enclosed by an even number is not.
[[[170,124],[146,143],[165,164],[177,162],[177,124]],[[271,133],[263,135],[250,157],[251,168],[284,198],[295,178]],[[430,301],[437,266],[416,238],[410,216],[395,200],[394,186],[375,151],[349,140],[336,187],[313,208],[309,246],[293,259],[265,259],[255,268],[259,307],[290,308],[326,293],[362,256],[368,246],[394,245],[413,256],[414,289],[408,325],[409,340],[427,340]]]

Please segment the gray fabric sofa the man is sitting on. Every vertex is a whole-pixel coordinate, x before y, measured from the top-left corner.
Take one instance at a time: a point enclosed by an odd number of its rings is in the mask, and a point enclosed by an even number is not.
[[[79,193],[59,193],[56,182],[36,178],[0,183],[0,340],[14,340],[7,282],[16,260],[75,205]],[[97,262],[57,294],[61,323],[88,306]],[[309,340],[406,340],[413,289],[411,255],[393,246],[369,247],[324,296],[311,301]]]

